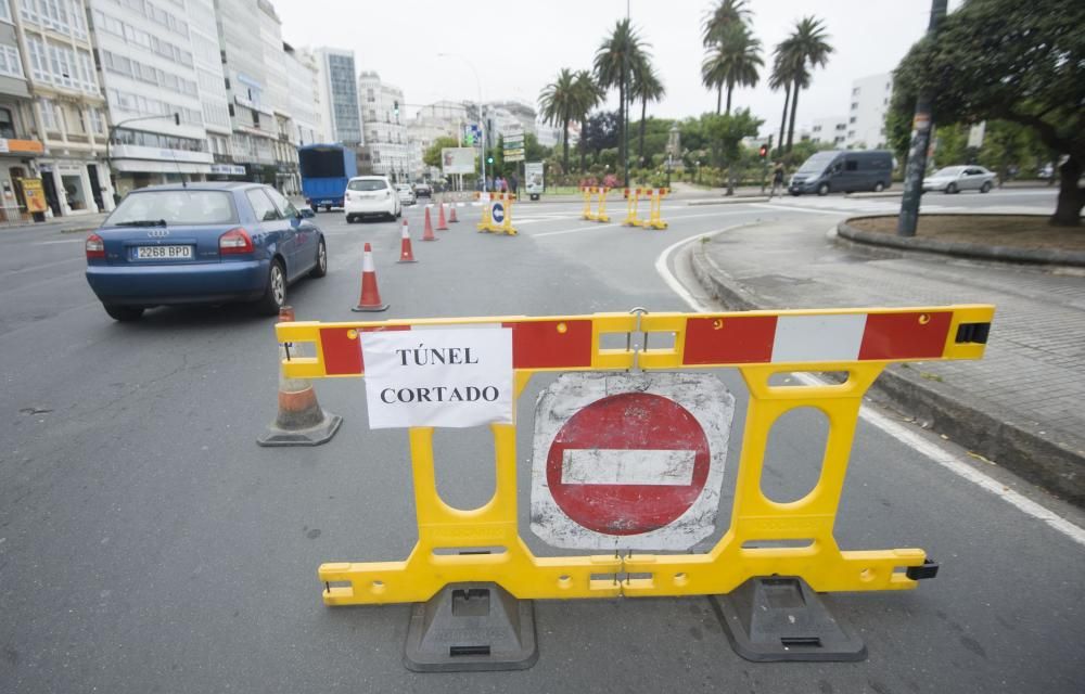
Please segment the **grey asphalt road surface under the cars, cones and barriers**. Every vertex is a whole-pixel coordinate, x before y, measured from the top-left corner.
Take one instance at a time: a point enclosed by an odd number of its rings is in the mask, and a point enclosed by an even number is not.
[[[1049,191],[931,196],[926,208],[1050,209]],[[477,234],[477,208],[396,265],[398,224],[320,214],[330,272],[289,291],[299,320],[355,320],[371,242],[382,316],[688,310],[655,270],[684,239],[757,219],[893,210],[895,198],[668,204],[665,232],[524,203],[521,234]],[[316,568],[400,560],[416,537],[406,433],[370,432],[360,380],[318,383],[342,430],[315,449],[263,449],[275,416],[271,321],[244,307],[157,309],[110,320],[82,278],[81,234],[0,230],[0,692],[1076,692],[1085,547],[860,423],[837,537],[845,549],[921,547],[942,564],[915,591],[828,599],[869,650],[854,664],[756,665],[733,654],[705,597],[539,602],[540,658],[523,672],[414,674],[408,607],[327,608]],[[671,273],[686,279],[680,249]],[[695,286],[692,294],[706,299]],[[907,304],[906,297],[902,303]],[[718,538],[745,411],[737,399]],[[521,398],[531,422],[537,378]],[[891,415],[892,416],[892,415]],[[765,490],[814,484],[825,425],[774,432]],[[521,534],[531,427],[519,434]],[[946,455],[952,444],[915,429]],[[436,435],[438,487],[460,507],[493,490],[488,430]],[[967,459],[966,459],[967,460]],[[981,463],[976,463],[981,465]],[[1043,494],[1000,471],[1006,485]],[[1048,503],[1048,502],[1045,502]],[[1082,526],[1081,514],[1051,505]],[[1076,665],[1075,665],[1076,663]]]

